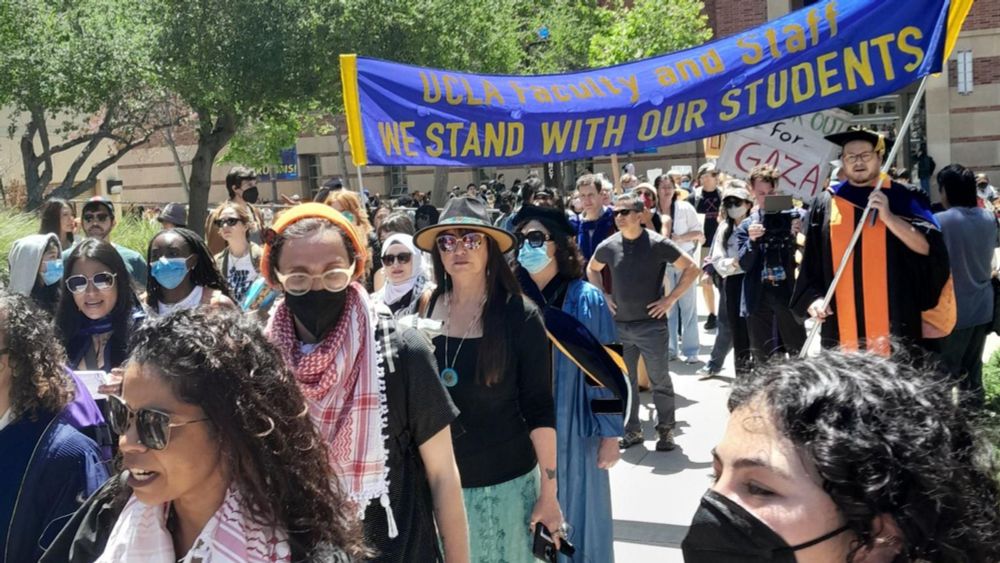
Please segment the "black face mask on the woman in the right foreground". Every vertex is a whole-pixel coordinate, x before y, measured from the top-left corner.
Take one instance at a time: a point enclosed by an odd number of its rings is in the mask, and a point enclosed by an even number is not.
[[[847,526],[790,546],[767,524],[725,496],[708,491],[681,542],[685,563],[795,563],[795,552],[847,531]]]

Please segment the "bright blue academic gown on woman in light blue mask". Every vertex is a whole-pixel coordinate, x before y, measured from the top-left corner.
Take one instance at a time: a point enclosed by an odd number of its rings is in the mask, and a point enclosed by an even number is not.
[[[601,290],[575,280],[566,290],[562,310],[579,320],[602,343],[615,342],[615,324]],[[597,467],[602,438],[624,432],[620,414],[594,414],[592,399],[614,398],[609,389],[591,387],[586,376],[562,352],[553,349],[559,505],[571,526],[577,548],[573,561],[613,562],[614,530],[608,471]],[[563,555],[561,561],[569,561]]]

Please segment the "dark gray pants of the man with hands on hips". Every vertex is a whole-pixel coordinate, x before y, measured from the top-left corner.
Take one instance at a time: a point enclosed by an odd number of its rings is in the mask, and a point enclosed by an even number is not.
[[[632,385],[632,408],[629,410],[626,432],[641,432],[639,423],[639,356],[646,362],[646,373],[653,388],[657,430],[674,427],[674,385],[667,365],[667,327],[662,320],[616,322],[618,340],[622,343],[625,367]]]

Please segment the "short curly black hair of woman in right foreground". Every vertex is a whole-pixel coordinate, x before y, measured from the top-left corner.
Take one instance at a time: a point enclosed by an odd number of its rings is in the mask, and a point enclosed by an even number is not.
[[[932,368],[900,359],[830,351],[774,363],[736,382],[729,410],[763,401],[856,534],[851,557],[875,545],[885,514],[905,561],[1000,561],[997,472],[982,438]]]

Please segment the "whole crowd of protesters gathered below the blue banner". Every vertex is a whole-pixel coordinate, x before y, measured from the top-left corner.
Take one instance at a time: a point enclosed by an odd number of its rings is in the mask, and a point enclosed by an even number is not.
[[[879,174],[881,136],[830,140],[844,179],[808,205],[771,166],[708,164],[571,193],[498,176],[443,209],[331,181],[266,221],[236,167],[205,238],[170,204],[142,256],[110,200],[82,232],[48,202],[0,290],[0,553],[614,561],[640,372],[670,452],[670,363],[709,379],[732,353],[686,561],[1000,560],[977,428],[995,192],[949,165],[932,209]],[[797,359],[813,323],[839,350]]]

